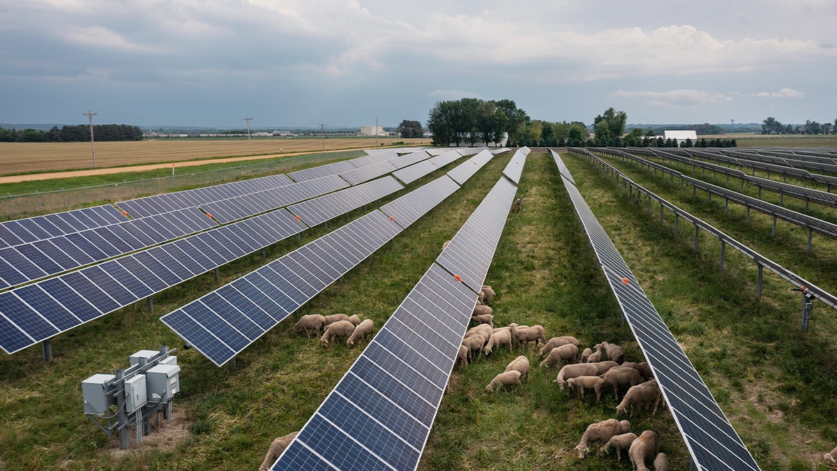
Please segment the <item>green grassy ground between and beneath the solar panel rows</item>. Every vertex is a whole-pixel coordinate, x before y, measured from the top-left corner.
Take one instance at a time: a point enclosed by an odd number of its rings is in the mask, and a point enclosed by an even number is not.
[[[358,313],[383,325],[439,255],[442,243],[501,178],[509,158],[511,153],[496,156],[454,197],[294,317]],[[812,462],[820,463],[822,453],[837,442],[837,349],[829,341],[837,327],[833,312],[815,306],[810,332],[801,334],[799,299],[787,282],[766,276],[763,298],[756,300],[755,267],[743,256],[727,251],[726,269],[719,271],[719,246],[708,237],[694,253],[690,228],[674,235],[672,221],[660,224],[659,213],[649,214],[631,202],[593,164],[566,154],[564,161],[759,465],[810,469]],[[678,194],[679,186],[669,187],[667,180],[655,180],[626,164],[618,167],[835,291],[834,241],[818,238],[808,254],[803,230],[780,225],[772,238],[767,218],[744,225],[740,213],[724,214],[722,202],[691,201],[691,194]],[[524,199],[523,210],[509,215],[486,278],[498,292],[496,324],[541,323],[547,338],[574,335],[583,346],[608,340],[624,345],[629,360],[642,360],[627,325],[619,323],[619,306],[547,153],[529,155],[518,196]],[[350,219],[362,214],[354,211]],[[343,222],[331,221],[330,230]],[[302,243],[324,233],[322,226],[309,230]],[[267,260],[296,246],[294,240],[271,246]],[[222,267],[220,282],[208,273],[173,287],[155,298],[153,314],[145,303],[136,303],[61,334],[53,340],[55,359],[49,364],[37,347],[0,357],[0,468],[256,468],[270,441],[306,422],[361,349],[342,344],[321,349],[315,339],[294,334],[295,321],[286,319],[245,349],[234,365],[219,369],[194,350],[180,349],[182,342],[158,318],[262,263],[256,253]],[[177,347],[182,367],[174,423],[152,432],[141,448],[121,452],[116,438],[107,439],[83,415],[80,381],[125,367],[128,355],[159,344]],[[624,456],[621,462],[614,455],[598,458],[594,453],[578,459],[573,447],[584,428],[615,417],[617,402],[608,393],[597,403],[589,395],[582,401],[559,391],[552,383],[557,370],[538,368],[537,352],[526,352],[532,371],[521,388],[485,391],[489,380],[523,353],[497,352],[465,370],[454,369],[419,469],[629,469]],[[630,420],[638,434],[644,429],[658,432],[671,469],[688,468],[686,447],[667,411],[654,417],[640,412]]]

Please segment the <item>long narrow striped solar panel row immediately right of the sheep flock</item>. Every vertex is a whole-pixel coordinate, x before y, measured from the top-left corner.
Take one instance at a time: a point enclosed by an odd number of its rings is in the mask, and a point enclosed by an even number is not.
[[[560,160],[553,154],[556,161]],[[680,344],[639,287],[583,196],[562,176],[608,284],[669,405],[698,469],[758,469]]]

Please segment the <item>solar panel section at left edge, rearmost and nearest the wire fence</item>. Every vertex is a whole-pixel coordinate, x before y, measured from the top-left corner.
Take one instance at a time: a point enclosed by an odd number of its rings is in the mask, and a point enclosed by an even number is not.
[[[0,223],[0,249],[75,234],[104,225],[119,224],[125,220],[125,215],[110,204],[53,215],[7,220]]]

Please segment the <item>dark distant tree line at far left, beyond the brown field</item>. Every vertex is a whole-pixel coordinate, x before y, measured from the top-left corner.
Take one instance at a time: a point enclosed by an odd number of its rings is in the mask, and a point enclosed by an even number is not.
[[[96,141],[141,141],[142,130],[127,124],[97,124],[93,127]],[[5,129],[0,127],[0,142],[86,142],[90,126],[54,126],[49,131],[38,129]]]

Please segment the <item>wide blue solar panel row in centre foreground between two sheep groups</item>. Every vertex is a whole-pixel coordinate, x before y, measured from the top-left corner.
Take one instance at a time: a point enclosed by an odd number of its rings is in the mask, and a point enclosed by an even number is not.
[[[497,182],[271,469],[418,467],[479,291],[453,274],[482,286],[515,193]]]

